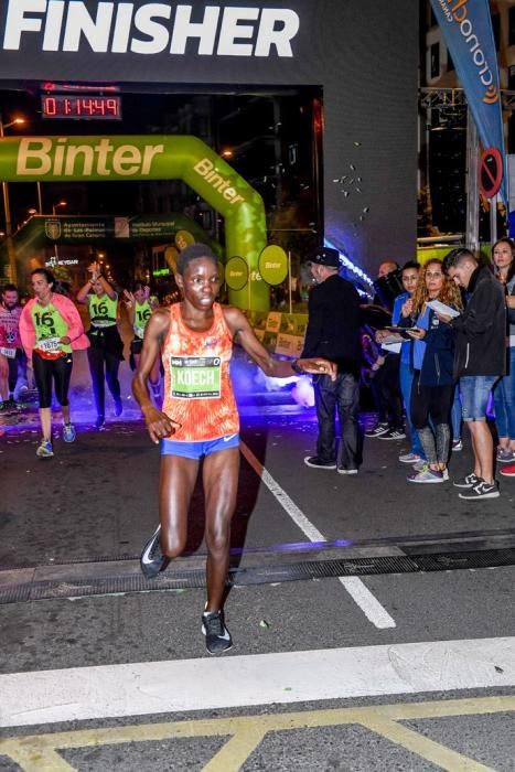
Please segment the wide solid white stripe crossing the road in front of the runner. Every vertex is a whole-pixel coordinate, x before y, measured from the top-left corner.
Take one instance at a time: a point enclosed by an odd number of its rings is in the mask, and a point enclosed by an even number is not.
[[[0,726],[515,686],[515,637],[0,675]]]

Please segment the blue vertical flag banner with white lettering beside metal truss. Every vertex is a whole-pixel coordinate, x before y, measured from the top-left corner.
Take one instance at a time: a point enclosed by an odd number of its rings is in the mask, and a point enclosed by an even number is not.
[[[503,159],[501,195],[508,204],[503,115],[489,0],[431,0],[485,150]]]

